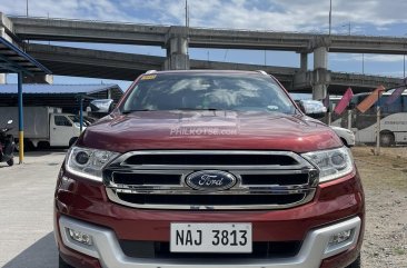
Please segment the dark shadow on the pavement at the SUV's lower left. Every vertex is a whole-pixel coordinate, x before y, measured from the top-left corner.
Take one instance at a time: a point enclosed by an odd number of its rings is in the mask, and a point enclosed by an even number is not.
[[[2,268],[57,268],[58,250],[53,232],[31,245]]]

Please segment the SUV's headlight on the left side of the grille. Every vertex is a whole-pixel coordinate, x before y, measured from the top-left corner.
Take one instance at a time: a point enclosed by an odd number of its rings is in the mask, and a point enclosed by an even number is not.
[[[72,147],[68,151],[67,170],[88,179],[102,181],[102,169],[119,153],[97,149]]]

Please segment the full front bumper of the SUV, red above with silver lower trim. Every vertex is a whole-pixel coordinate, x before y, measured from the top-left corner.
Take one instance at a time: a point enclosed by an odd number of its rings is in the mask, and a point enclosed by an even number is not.
[[[66,177],[63,177],[63,175]],[[66,178],[66,179],[61,179]],[[109,201],[102,183],[61,170],[56,191],[54,234],[61,257],[77,268],[112,267],[270,267],[343,268],[359,255],[364,230],[364,193],[358,173],[318,186],[315,199],[284,210],[179,211],[142,210]],[[301,241],[299,251],[280,258],[129,257],[119,242],[168,242],[171,222],[251,222],[254,242]],[[66,228],[88,231],[93,247],[70,240]],[[331,234],[351,227],[351,239],[339,248],[327,245]]]

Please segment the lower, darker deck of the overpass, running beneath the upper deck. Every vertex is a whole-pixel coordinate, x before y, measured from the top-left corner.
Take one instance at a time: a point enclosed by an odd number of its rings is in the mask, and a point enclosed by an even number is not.
[[[147,70],[161,70],[165,57],[111,52],[93,49],[29,43],[27,52],[60,76],[91,77],[118,80],[135,80]],[[309,92],[310,77],[305,83],[296,81],[299,68],[256,66],[232,62],[190,60],[191,69],[265,70],[274,75],[290,91]],[[378,85],[387,88],[398,86],[403,79],[331,72],[330,93],[343,93],[347,87],[354,92],[369,91]]]

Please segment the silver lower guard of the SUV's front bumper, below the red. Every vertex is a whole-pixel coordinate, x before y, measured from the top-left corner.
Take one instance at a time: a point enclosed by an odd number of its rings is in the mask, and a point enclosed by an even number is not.
[[[322,228],[309,231],[302,242],[301,249],[294,258],[284,259],[148,259],[127,257],[118,242],[115,232],[110,229],[76,220],[66,216],[59,218],[59,228],[62,242],[66,247],[79,251],[86,256],[99,259],[101,267],[120,268],[316,268],[319,267],[322,259],[350,250],[356,247],[361,229],[361,220],[354,217],[341,222],[329,225]],[[79,244],[70,238],[67,229],[82,231],[92,237],[93,245],[87,246]],[[329,246],[331,236],[351,229],[351,236],[348,240]]]

